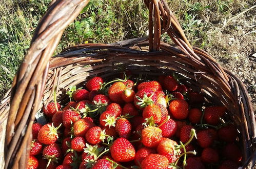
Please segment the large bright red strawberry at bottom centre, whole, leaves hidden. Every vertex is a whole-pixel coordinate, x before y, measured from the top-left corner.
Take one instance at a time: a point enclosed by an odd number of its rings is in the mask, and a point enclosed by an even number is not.
[[[110,153],[117,162],[128,162],[135,157],[133,145],[125,138],[117,138],[110,146]]]

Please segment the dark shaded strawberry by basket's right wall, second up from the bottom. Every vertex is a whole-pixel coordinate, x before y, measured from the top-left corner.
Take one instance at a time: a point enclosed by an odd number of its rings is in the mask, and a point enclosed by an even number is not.
[[[219,131],[218,135],[220,140],[226,141],[226,142],[234,142],[235,138],[238,137],[237,129],[235,129],[235,126],[233,124],[228,124],[226,126],[223,126]]]

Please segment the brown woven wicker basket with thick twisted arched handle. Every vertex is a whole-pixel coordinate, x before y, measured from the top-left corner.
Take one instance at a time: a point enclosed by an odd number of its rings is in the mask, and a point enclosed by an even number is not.
[[[191,47],[164,0],[145,0],[149,9],[149,36],[115,44],[85,44],[52,57],[64,29],[88,0],[53,0],[35,30],[28,53],[0,104],[0,166],[26,168],[35,113],[51,101],[66,102],[70,85],[82,86],[92,76],[111,78],[122,65],[133,74],[152,78],[178,72],[182,83],[201,91],[207,101],[222,104],[240,131],[243,166],[255,167],[255,118],[243,82],[205,51]],[[167,32],[175,47],[160,41]],[[8,120],[7,120],[8,119]],[[4,151],[3,151],[4,150]],[[5,162],[4,162],[5,161]]]

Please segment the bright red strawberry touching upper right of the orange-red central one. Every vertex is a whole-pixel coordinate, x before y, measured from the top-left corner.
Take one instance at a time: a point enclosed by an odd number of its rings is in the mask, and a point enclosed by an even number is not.
[[[174,120],[169,119],[163,125],[161,125],[159,129],[162,130],[163,137],[170,138],[174,136],[178,129],[178,126]]]

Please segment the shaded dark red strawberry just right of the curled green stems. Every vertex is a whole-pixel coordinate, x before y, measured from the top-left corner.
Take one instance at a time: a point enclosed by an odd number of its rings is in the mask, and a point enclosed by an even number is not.
[[[214,141],[214,135],[209,130],[202,130],[198,132],[198,143],[201,147],[209,147]]]

